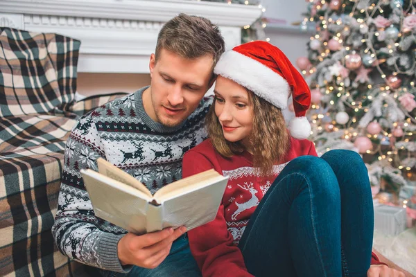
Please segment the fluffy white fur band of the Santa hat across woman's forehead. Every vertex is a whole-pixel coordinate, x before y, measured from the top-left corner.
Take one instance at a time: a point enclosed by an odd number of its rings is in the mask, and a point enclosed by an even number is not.
[[[232,50],[223,53],[214,73],[241,84],[280,109],[286,109],[288,105],[291,95],[288,82],[279,73],[246,55]]]

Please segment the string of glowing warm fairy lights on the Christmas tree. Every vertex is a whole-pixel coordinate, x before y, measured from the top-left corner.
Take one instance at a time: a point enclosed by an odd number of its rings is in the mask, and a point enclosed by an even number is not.
[[[309,0],[311,3],[317,3],[315,0]],[[378,3],[372,3],[370,6],[367,6],[366,8],[361,8],[361,10],[357,10],[358,7],[358,2],[356,0],[349,0],[350,2],[354,2],[354,6],[352,8],[352,11],[349,12],[349,17],[353,17],[354,15],[356,17],[358,17],[356,19],[357,23],[360,24],[359,28],[360,30],[363,28],[367,28],[367,22],[370,21],[370,19],[372,19],[374,17],[374,14],[376,11],[379,11],[379,14],[383,14],[383,8],[382,8],[382,1],[378,1]],[[332,3],[333,1],[331,1]],[[341,8],[341,14],[345,12],[345,7],[347,6],[346,3],[342,3],[342,1],[338,0],[335,1],[338,2],[336,3],[337,5],[340,5],[339,8]],[[327,1],[320,1],[320,3],[318,2],[318,5],[315,6],[317,12],[319,12],[319,10],[324,6],[327,5]],[[404,20],[404,13],[415,13],[415,7],[413,5],[413,2],[410,1],[410,4],[407,8],[407,10],[403,10],[403,6],[400,0],[393,0],[390,3],[390,6],[395,6],[395,8],[400,8],[401,9],[401,23]],[[335,7],[337,8],[337,7]],[[322,39],[322,35],[320,35],[321,32],[327,32],[327,30],[329,29],[329,24],[336,24],[336,25],[341,25],[343,24],[343,19],[340,17],[336,20],[334,20],[332,17],[329,16],[329,12],[324,12],[324,15],[320,15],[319,17],[320,22],[318,23],[318,34],[311,36],[311,42],[310,42],[310,46],[311,48],[313,48],[314,45],[319,45],[322,44],[325,47],[321,47],[321,50],[319,55],[318,55],[318,60],[320,62],[323,62],[327,57],[329,57],[330,55],[333,54],[333,51],[330,51],[329,48],[327,48],[329,43],[334,44],[334,42],[337,42],[339,44],[339,50],[342,50],[343,48],[343,43],[345,43],[345,38],[350,35],[350,30],[349,30],[349,26],[345,26],[343,28],[343,31],[337,31],[336,33],[333,34],[333,37],[331,39],[329,39],[329,41],[327,42],[327,39]],[[302,24],[300,26],[301,30],[306,30],[306,28],[308,28],[309,23],[308,22],[313,22],[315,21],[313,16],[309,16],[309,17],[304,17],[304,20],[302,21]],[[305,27],[306,26],[306,27]],[[385,32],[389,32],[388,35],[390,35],[390,40],[389,42],[392,42],[391,44],[388,43],[388,53],[393,53],[395,51],[397,51],[397,47],[399,47],[400,42],[397,42],[397,39],[404,39],[404,35],[402,34],[402,32],[406,33],[406,35],[412,35],[414,37],[413,33],[408,33],[410,32],[410,30],[402,30],[401,32],[399,30],[397,30],[397,28],[395,26],[390,26],[388,28],[385,29]],[[346,34],[346,35],[345,35]],[[408,71],[401,71],[399,69],[399,66],[397,66],[397,64],[395,64],[395,71],[392,72],[392,74],[387,75],[383,69],[381,68],[380,64],[382,64],[383,62],[385,62],[385,59],[378,59],[376,58],[376,50],[374,49],[374,45],[373,45],[373,40],[370,37],[370,33],[369,32],[363,32],[363,39],[361,40],[361,42],[363,42],[363,44],[365,45],[365,50],[363,51],[364,55],[363,55],[363,61],[365,60],[367,62],[367,64],[369,64],[370,66],[372,66],[372,69],[376,69],[376,71],[379,72],[381,78],[383,79],[384,83],[382,84],[367,84],[367,88],[369,89],[368,91],[368,95],[367,96],[363,96],[363,98],[361,100],[356,100],[354,99],[354,97],[352,96],[352,93],[350,93],[350,90],[352,89],[356,89],[356,88],[352,88],[350,86],[346,86],[344,82],[342,82],[342,78],[338,75],[338,77],[336,78],[337,82],[332,82],[332,81],[327,81],[324,80],[324,84],[326,86],[326,89],[324,91],[325,94],[330,94],[333,93],[334,91],[336,92],[336,97],[339,98],[338,100],[343,101],[343,103],[351,108],[352,110],[354,110],[354,112],[356,114],[363,114],[363,112],[367,112],[369,107],[367,107],[363,102],[365,102],[365,100],[372,100],[373,98],[376,97],[376,93],[378,93],[378,91],[381,91],[381,96],[383,96],[383,98],[385,97],[390,97],[390,95],[392,95],[392,97],[394,99],[397,99],[399,97],[399,92],[401,93],[406,93],[408,91],[407,87],[401,87],[401,80],[397,77],[397,75],[399,74],[408,74],[409,72],[413,72],[415,71],[415,64],[413,64],[413,66],[408,69]],[[375,36],[378,37],[380,35],[379,32],[375,33]],[[397,38],[397,39],[395,39]],[[416,39],[415,39],[416,40]],[[323,42],[322,42],[323,41]],[[318,48],[318,47],[317,47]],[[345,55],[344,58],[341,59],[341,64],[343,66],[345,66],[345,64],[347,62],[351,63],[351,60],[354,61],[354,59],[356,58],[356,55],[358,55],[356,53],[356,49],[353,48],[353,46],[347,45],[345,46],[345,53],[347,53],[347,55]],[[310,69],[304,69],[302,70],[302,73],[304,75],[309,75],[309,74],[313,74],[316,72],[316,66],[313,66]],[[415,87],[415,82],[411,81],[410,82],[410,86],[411,87]],[[320,85],[316,84],[315,85],[316,89],[320,89]],[[336,103],[331,100],[329,102],[330,105],[335,105]],[[385,102],[383,104],[383,107],[387,108],[388,107],[388,103]],[[315,103],[311,106],[312,109],[316,109],[317,111],[320,111],[320,103]],[[406,114],[406,121],[404,122],[404,127],[408,127],[411,123],[415,124],[416,123],[416,117],[412,117],[410,115],[410,113],[408,111],[404,111],[404,113]],[[346,113],[345,113],[346,114]],[[326,114],[327,116],[329,116],[329,113]],[[338,114],[337,114],[338,115]],[[321,120],[322,118],[324,118],[325,114],[314,114],[312,116],[312,122],[314,124],[319,123],[319,120]],[[348,116],[348,115],[347,115]],[[343,120],[341,120],[343,121]],[[351,125],[353,123],[356,123],[357,118],[356,116],[352,116],[352,120],[349,120],[349,118],[347,118],[347,120],[344,124],[348,123],[345,125],[345,132],[343,135],[343,139],[347,139],[347,140],[351,140],[354,139],[358,136],[363,136],[363,134],[365,132],[363,132],[363,127],[355,129],[354,127],[352,127]],[[339,122],[337,122],[336,120],[333,120],[331,122],[331,124],[329,125],[329,128],[333,131],[338,131],[338,127],[335,127],[334,125]],[[371,124],[371,123],[370,123]],[[406,136],[413,136],[413,132],[403,132],[403,130],[400,129],[401,127],[399,126],[398,123],[394,123],[393,124],[393,128],[391,128],[391,132],[388,132],[388,130],[385,129],[381,129],[381,134],[383,134],[384,136],[386,136],[387,138],[392,138],[392,136],[401,136],[401,137],[406,137]],[[319,125],[318,126],[318,131],[322,131],[322,126]],[[367,138],[371,139],[374,138],[376,139],[379,136],[379,132],[376,132],[376,134],[366,134],[365,136],[367,136]],[[385,138],[381,139],[386,140]],[[409,142],[410,139],[409,138],[404,138],[403,140],[404,142]],[[327,151],[330,150],[330,148],[327,148]],[[404,146],[402,146],[400,148],[400,150],[404,150]],[[388,151],[386,153],[383,153],[381,151],[381,145],[378,145],[378,147],[376,149],[367,149],[365,150],[365,153],[367,154],[378,154],[378,159],[379,161],[383,160],[383,159],[388,159],[388,161],[390,163],[395,162],[395,164],[397,165],[397,168],[399,170],[401,169],[406,169],[407,171],[410,171],[411,168],[410,166],[404,166],[400,163],[400,159],[399,159],[399,152],[397,149],[393,149],[392,151]],[[408,151],[408,157],[410,157],[410,151]],[[409,172],[409,174],[411,175],[411,173]]]

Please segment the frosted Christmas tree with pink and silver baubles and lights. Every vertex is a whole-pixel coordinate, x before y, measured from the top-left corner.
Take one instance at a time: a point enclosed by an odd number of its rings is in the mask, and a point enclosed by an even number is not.
[[[415,0],[310,0],[301,29],[315,31],[309,56],[296,62],[311,86],[319,154],[361,153],[372,185],[397,203],[416,179],[415,8]]]

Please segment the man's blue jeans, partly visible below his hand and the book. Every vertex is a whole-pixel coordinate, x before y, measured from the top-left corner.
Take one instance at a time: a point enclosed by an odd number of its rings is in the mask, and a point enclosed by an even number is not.
[[[128,274],[111,271],[101,272],[107,277],[200,277],[201,271],[189,249],[187,233],[181,235],[172,244],[166,259],[155,269],[133,266]]]

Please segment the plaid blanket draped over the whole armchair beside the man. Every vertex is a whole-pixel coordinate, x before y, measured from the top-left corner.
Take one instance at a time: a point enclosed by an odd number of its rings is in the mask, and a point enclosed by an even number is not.
[[[76,119],[125,95],[73,102],[79,42],[0,28],[0,276],[85,276],[51,227]]]

